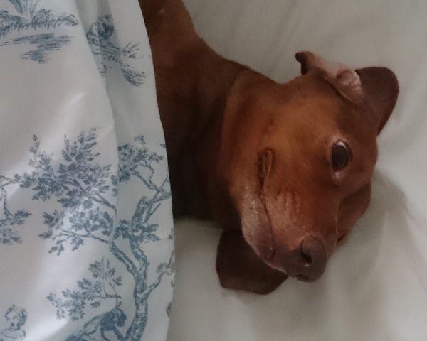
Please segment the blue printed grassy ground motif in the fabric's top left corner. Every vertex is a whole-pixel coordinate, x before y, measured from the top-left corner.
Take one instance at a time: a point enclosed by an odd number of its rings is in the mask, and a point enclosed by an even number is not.
[[[12,33],[28,31],[54,30],[58,26],[76,26],[78,20],[73,14],[56,13],[48,9],[36,9],[40,0],[9,0],[16,13],[0,11],[0,38],[6,38]],[[34,60],[38,63],[46,63],[49,52],[58,51],[70,43],[70,36],[55,36],[53,33],[29,34],[19,38],[11,38],[0,43],[0,47],[25,44],[35,49],[21,55],[22,59]]]

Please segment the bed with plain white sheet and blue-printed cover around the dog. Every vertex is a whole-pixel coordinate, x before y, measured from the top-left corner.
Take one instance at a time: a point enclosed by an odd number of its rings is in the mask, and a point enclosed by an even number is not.
[[[184,2],[278,82],[300,50],[396,73],[369,210],[319,281],[221,288],[221,229],[172,221],[137,1],[0,0],[0,340],[426,340],[427,3]]]

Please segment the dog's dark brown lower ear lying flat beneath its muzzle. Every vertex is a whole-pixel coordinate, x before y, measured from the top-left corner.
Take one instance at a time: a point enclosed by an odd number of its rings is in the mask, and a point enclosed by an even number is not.
[[[221,286],[266,294],[288,276],[265,264],[246,243],[240,229],[224,229],[216,255]]]

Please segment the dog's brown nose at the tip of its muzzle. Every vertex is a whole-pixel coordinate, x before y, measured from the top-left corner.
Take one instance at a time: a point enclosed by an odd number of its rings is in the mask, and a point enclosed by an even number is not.
[[[327,262],[325,244],[319,237],[305,237],[302,240],[300,252],[304,266],[297,278],[300,281],[315,281],[325,271]]]

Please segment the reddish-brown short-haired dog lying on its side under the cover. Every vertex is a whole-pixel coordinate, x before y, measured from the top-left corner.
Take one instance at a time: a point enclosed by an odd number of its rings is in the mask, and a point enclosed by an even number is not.
[[[398,83],[297,53],[302,75],[278,84],[217,55],[181,0],[139,0],[152,45],[174,213],[224,229],[222,286],[268,293],[314,281],[371,195],[376,136]]]

